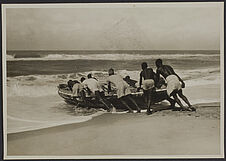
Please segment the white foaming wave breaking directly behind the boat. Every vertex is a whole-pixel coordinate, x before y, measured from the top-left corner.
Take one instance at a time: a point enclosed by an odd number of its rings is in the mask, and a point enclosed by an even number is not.
[[[199,69],[199,70],[176,70],[176,72],[185,80],[187,86],[218,84],[220,83],[219,68]],[[90,71],[71,74],[57,75],[28,75],[7,78],[7,95],[8,96],[27,96],[38,97],[47,95],[56,95],[57,86],[60,83],[66,83],[68,80],[80,80],[86,77],[88,73],[92,73],[94,77],[101,82],[105,82],[108,76],[104,71]],[[117,71],[122,77],[129,75],[131,79],[139,80],[140,71]]]

